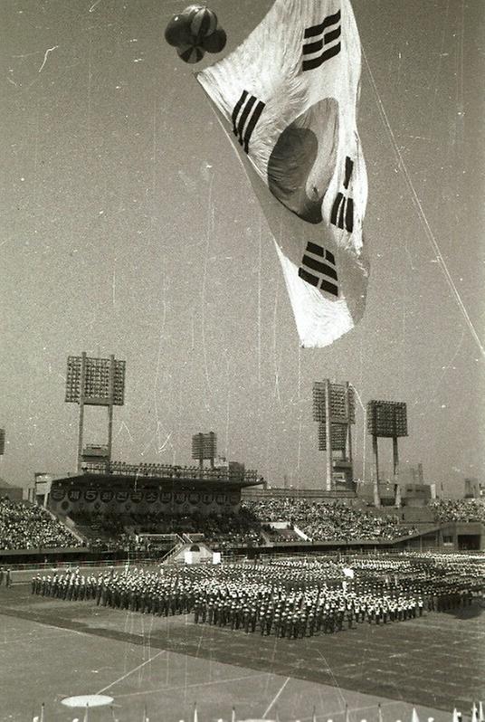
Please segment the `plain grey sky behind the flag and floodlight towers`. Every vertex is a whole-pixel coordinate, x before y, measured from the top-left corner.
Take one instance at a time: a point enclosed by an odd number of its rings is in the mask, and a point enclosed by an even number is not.
[[[224,53],[270,5],[214,0]],[[164,41],[184,6],[0,4],[0,476],[74,469],[66,357],[85,350],[127,361],[115,459],[190,463],[192,434],[213,430],[271,484],[316,488],[311,388],[329,377],[364,404],[408,404],[400,455],[425,480],[456,494],[483,479],[484,358],[430,235],[484,344],[485,3],[354,0],[371,278],[357,328],[314,350],[299,347],[262,212],[192,75],[217,56],[189,66]],[[104,413],[90,408],[86,442],[105,442]],[[356,473],[370,479],[363,419],[357,404]]]

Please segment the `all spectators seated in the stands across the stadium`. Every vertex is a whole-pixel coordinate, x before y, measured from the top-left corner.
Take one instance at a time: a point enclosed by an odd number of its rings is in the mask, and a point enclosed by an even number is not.
[[[485,523],[485,505],[480,500],[458,499],[433,502],[436,520],[481,521]],[[134,541],[136,533],[203,534],[204,541],[220,549],[237,546],[264,546],[281,541],[313,542],[392,541],[417,533],[396,514],[328,503],[315,499],[245,499],[238,514],[159,513],[71,514],[90,546],[109,550],[143,551]],[[281,528],[271,524],[279,522]],[[301,532],[302,534],[300,535]],[[44,508],[0,500],[0,548],[36,549],[39,547],[80,546],[71,531]],[[145,548],[147,546],[145,545]]]

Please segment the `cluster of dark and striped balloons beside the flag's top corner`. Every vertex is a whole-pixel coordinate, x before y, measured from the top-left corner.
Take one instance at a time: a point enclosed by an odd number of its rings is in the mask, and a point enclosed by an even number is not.
[[[218,25],[217,15],[204,5],[189,5],[166,25],[165,39],[176,47],[185,62],[199,62],[205,51],[221,52],[226,34]]]

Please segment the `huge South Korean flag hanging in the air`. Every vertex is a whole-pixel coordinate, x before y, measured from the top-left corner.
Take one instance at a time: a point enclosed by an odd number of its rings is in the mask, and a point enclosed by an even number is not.
[[[248,164],[301,345],[327,346],[362,317],[368,277],[351,5],[276,0],[242,45],[196,78],[255,171]]]

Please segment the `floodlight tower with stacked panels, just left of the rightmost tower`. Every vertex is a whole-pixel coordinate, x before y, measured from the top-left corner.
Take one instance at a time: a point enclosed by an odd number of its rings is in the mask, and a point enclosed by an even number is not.
[[[319,423],[319,451],[327,451],[325,488],[335,489],[338,480],[352,487],[352,433],[356,423],[354,390],[348,381],[331,384],[328,379],[313,384],[313,420]],[[340,452],[334,458],[334,451]]]

